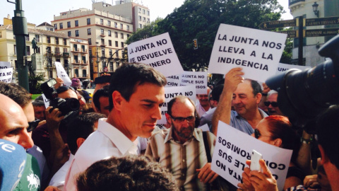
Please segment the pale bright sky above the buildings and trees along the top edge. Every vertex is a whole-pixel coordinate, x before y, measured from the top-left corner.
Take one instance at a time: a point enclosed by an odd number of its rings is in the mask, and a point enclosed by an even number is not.
[[[15,0],[11,0],[15,1]],[[61,12],[78,9],[90,8],[92,9],[92,0],[21,0],[23,4],[23,11],[28,23],[40,25],[43,22],[50,23],[54,20],[54,15],[59,16]],[[105,1],[105,0],[103,0]],[[115,3],[115,0],[113,0]],[[288,11],[288,0],[278,0],[284,6],[285,15],[283,19],[292,19],[290,11]],[[107,4],[112,4],[112,0],[105,1]],[[184,0],[133,0],[138,4],[143,4],[150,8],[150,20],[154,21],[155,18],[165,18],[167,14],[172,13],[175,7],[182,6]],[[0,0],[0,24],[4,24],[3,19],[10,14],[11,18],[14,14],[15,4],[8,3],[6,0]]]

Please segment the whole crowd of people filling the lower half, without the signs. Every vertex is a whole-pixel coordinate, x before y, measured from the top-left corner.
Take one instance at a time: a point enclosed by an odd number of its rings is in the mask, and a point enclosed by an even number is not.
[[[93,98],[57,79],[57,97],[80,105],[66,114],[0,82],[0,190],[278,190],[262,159],[261,170],[244,168],[237,187],[211,170],[219,121],[293,151],[284,190],[338,190],[339,107],[309,134],[278,108],[278,92],[243,75],[231,69],[196,103],[173,98],[166,125],[157,120],[167,80],[146,64],[98,78]]]

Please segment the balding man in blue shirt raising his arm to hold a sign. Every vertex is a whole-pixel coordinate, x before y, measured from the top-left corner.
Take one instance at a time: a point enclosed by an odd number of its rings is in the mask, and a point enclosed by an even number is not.
[[[268,116],[258,108],[261,100],[261,86],[257,81],[242,78],[242,68],[231,69],[225,75],[225,86],[213,115],[213,133],[218,132],[221,120],[246,134],[254,133],[258,122]],[[231,107],[234,110],[231,110]]]

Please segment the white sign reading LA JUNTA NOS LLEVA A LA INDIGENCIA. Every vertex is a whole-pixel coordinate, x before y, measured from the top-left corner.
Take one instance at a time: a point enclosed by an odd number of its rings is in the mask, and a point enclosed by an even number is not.
[[[266,30],[220,24],[208,73],[227,74],[242,67],[244,78],[266,81],[275,75],[287,35]]]

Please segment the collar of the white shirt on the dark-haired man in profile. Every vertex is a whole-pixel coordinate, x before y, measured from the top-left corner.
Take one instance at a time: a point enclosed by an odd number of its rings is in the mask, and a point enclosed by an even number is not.
[[[125,155],[129,149],[138,144],[138,139],[131,141],[113,125],[106,122],[107,118],[101,118],[97,125],[97,131],[105,134],[114,144],[121,154]]]

